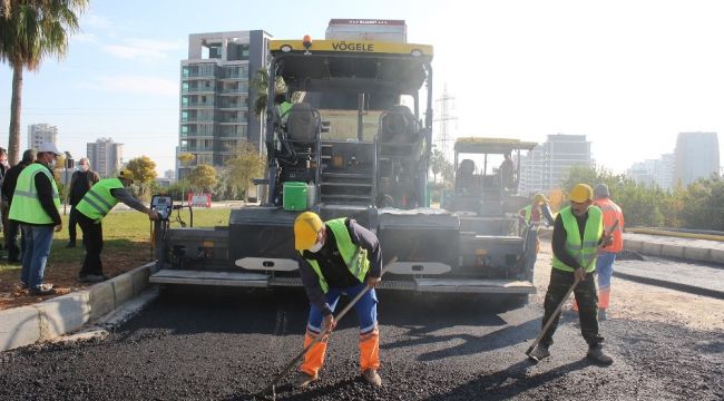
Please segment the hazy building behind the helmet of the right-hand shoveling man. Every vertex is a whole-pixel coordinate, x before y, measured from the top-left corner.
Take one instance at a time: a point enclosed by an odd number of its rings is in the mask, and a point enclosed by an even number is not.
[[[590,141],[585,135],[548,135],[548,140],[520,158],[519,193],[559,188],[574,166],[590,166]]]

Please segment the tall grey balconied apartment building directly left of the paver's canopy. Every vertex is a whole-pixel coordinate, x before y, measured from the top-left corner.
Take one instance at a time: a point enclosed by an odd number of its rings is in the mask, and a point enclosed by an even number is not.
[[[188,59],[180,62],[178,151],[195,159],[177,165],[179,179],[197,165],[224,166],[239,141],[263,140],[250,80],[267,65],[270,39],[263,30],[189,35]]]

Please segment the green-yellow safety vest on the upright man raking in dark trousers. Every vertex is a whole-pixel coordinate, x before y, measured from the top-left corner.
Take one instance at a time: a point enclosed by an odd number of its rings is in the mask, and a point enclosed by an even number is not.
[[[588,207],[588,219],[586,219],[583,242],[580,241],[576,216],[574,216],[570,206],[560,211],[559,215],[568,235],[566,237],[566,252],[586,268],[586,273],[591,273],[596,270],[598,241],[604,233],[604,213],[596,206]],[[565,272],[574,271],[571,266],[560,262],[556,255],[554,255],[554,267]]]

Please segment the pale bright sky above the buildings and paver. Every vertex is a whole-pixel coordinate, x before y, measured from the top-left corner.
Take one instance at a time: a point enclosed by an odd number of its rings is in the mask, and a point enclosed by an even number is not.
[[[67,57],[26,72],[27,127],[59,128],[76,159],[112,137],[126,160],[174,168],[188,35],[263,29],[323,38],[332,18],[403,19],[434,47],[433,97],[454,97],[458,136],[586,135],[615,173],[672,153],[682,131],[724,133],[724,2],[718,0],[91,0]],[[0,66],[0,146],[12,71]],[[724,145],[724,140],[720,140]],[[720,149],[720,153],[722,149]]]

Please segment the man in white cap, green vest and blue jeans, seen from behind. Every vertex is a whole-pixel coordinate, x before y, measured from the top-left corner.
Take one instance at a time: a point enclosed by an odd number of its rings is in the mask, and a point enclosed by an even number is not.
[[[56,144],[38,146],[36,163],[18,176],[10,205],[10,219],[20,224],[26,248],[22,252],[20,284],[30,295],[52,295],[52,284],[43,283],[46,263],[52,245],[52,233],[62,229],[58,213],[60,195],[52,176],[56,159],[62,155]]]

